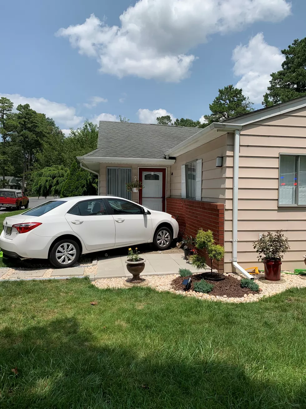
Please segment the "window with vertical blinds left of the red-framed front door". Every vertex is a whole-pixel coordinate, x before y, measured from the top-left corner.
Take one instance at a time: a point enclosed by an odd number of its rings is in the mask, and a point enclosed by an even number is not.
[[[131,199],[131,192],[126,191],[126,183],[131,182],[131,168],[107,168],[107,195]]]

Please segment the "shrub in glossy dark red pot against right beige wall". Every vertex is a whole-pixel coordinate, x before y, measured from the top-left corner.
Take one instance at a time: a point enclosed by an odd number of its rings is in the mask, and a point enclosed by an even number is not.
[[[259,240],[253,243],[253,247],[258,253],[258,261],[264,263],[264,277],[269,281],[279,281],[281,276],[282,258],[286,251],[290,249],[288,238],[282,230],[275,233],[268,231]]]

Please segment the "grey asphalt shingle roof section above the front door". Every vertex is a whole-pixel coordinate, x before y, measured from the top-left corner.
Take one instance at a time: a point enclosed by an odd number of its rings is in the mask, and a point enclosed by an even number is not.
[[[182,126],[100,121],[98,149],[84,156],[164,159],[164,152],[201,130]]]

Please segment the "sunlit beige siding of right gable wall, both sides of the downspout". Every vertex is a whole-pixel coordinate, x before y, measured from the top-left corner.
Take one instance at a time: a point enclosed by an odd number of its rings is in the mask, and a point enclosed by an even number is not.
[[[306,154],[306,109],[245,125],[240,136],[238,192],[238,263],[258,266],[253,241],[260,233],[284,230],[290,251],[282,270],[304,268],[306,207],[278,207],[279,153]],[[233,135],[228,135],[224,214],[224,271],[231,272]]]

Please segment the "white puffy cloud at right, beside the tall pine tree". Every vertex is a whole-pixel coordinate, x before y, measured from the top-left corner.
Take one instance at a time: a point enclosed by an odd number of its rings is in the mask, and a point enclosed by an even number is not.
[[[282,68],[284,55],[277,47],[268,45],[264,35],[258,33],[247,45],[238,45],[233,51],[234,74],[242,78],[236,87],[254,103],[262,102],[267,91],[270,74]]]

